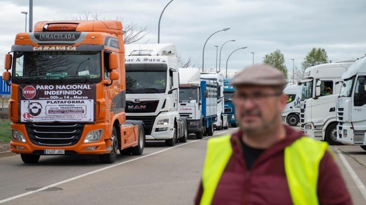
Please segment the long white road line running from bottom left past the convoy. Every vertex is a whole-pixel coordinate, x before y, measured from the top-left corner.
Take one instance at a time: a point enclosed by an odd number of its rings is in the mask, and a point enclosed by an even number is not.
[[[220,133],[217,133],[217,134],[214,134],[213,136],[216,136],[216,135],[220,135],[222,133],[225,133],[225,132],[229,132],[229,131],[233,131],[237,128],[234,128],[234,129],[229,129],[229,130],[226,130],[226,131],[223,131],[223,132],[220,132]],[[203,139],[206,139],[206,138],[210,138],[211,136],[208,136],[208,137],[205,137]],[[66,179],[64,181],[61,181],[61,182],[57,182],[57,183],[54,183],[54,184],[51,184],[51,185],[48,185],[48,186],[45,186],[45,187],[42,187],[42,188],[39,188],[37,190],[34,190],[34,191],[28,191],[26,193],[23,193],[23,194],[19,194],[19,195],[15,195],[14,197],[9,197],[9,198],[6,198],[6,199],[3,199],[0,201],[0,204],[1,203],[4,203],[4,202],[7,202],[7,201],[11,201],[11,200],[14,200],[14,199],[17,199],[17,198],[20,198],[20,197],[25,197],[26,195],[30,195],[30,194],[34,194],[34,193],[37,193],[37,192],[40,192],[40,191],[43,191],[43,190],[46,190],[48,188],[51,188],[51,187],[55,187],[55,186],[58,186],[60,184],[64,184],[64,183],[67,183],[67,182],[71,182],[75,179],[79,179],[81,177],[84,177],[84,176],[88,176],[88,175],[92,175],[94,173],[97,173],[97,172],[101,172],[101,171],[104,171],[106,169],[110,169],[110,168],[113,168],[115,166],[119,166],[119,165],[122,165],[122,164],[126,164],[128,162],[132,162],[132,161],[136,161],[136,160],[140,160],[142,158],[145,158],[145,157],[150,157],[152,155],[155,155],[155,154],[158,154],[158,153],[162,153],[164,151],[168,151],[168,150],[171,150],[171,149],[174,149],[176,147],[180,147],[180,146],[184,146],[184,145],[187,145],[187,144],[190,144],[190,143],[193,143],[193,142],[197,142],[199,140],[202,140],[202,139],[198,139],[198,140],[193,140],[191,142],[187,142],[187,143],[184,143],[184,144],[179,144],[177,146],[174,146],[174,147],[169,147],[167,149],[164,149],[164,150],[160,150],[160,151],[157,151],[157,152],[154,152],[154,153],[151,153],[151,154],[148,154],[148,155],[145,155],[145,156],[141,156],[141,157],[137,157],[137,158],[134,158],[134,159],[131,159],[131,160],[127,160],[127,161],[124,161],[124,162],[120,162],[120,163],[117,163],[117,164],[113,164],[113,165],[110,165],[110,166],[106,166],[104,168],[101,168],[101,169],[97,169],[97,170],[94,170],[94,171],[91,171],[91,172],[87,172],[85,174],[82,174],[82,175],[79,175],[79,176],[75,176],[75,177],[72,177],[70,179]]]

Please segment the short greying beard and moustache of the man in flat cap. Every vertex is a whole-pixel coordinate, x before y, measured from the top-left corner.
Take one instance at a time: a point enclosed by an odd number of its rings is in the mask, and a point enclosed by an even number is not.
[[[259,123],[257,126],[243,126],[240,123],[240,129],[242,130],[243,133],[248,133],[248,134],[258,134],[258,133],[265,133],[268,131],[268,129],[270,129],[271,127],[273,127],[273,125],[276,123],[277,118],[279,116],[279,113],[276,112],[272,119],[270,119],[269,121],[266,121],[260,110],[258,109],[253,109],[253,110],[243,110],[242,113],[240,113],[241,117],[245,117],[245,116],[257,116],[259,118]]]

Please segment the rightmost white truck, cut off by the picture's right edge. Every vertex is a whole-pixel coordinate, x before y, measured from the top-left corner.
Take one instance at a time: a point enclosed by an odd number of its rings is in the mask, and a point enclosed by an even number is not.
[[[337,98],[337,140],[366,150],[366,58],[356,61],[343,75]]]

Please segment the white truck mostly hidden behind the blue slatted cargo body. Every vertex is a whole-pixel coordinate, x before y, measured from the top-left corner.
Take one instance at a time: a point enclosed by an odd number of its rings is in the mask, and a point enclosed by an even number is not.
[[[201,80],[215,80],[217,82],[217,117],[214,127],[221,130],[229,123],[227,114],[224,114],[224,75],[222,73],[201,72]]]

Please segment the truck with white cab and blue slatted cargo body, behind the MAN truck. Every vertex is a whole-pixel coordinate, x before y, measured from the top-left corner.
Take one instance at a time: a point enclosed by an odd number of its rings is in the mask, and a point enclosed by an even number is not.
[[[188,133],[202,139],[204,133],[212,136],[217,116],[217,83],[201,80],[197,68],[179,69],[179,115],[187,118]]]

